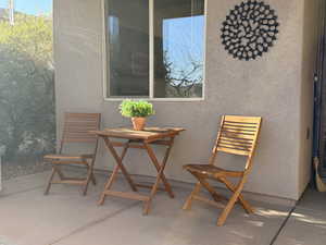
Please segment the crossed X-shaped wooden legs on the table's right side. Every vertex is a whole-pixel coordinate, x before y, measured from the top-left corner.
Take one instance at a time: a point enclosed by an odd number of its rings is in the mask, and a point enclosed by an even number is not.
[[[145,148],[147,149],[148,151],[148,155],[151,159],[151,161],[153,162],[154,167],[156,168],[156,171],[158,171],[158,176],[156,176],[156,180],[155,180],[155,183],[151,189],[151,194],[149,196],[149,200],[146,201],[145,204],[145,207],[143,207],[143,215],[148,215],[149,211],[150,211],[150,206],[151,206],[151,203],[152,203],[152,199],[154,197],[154,195],[156,194],[156,191],[158,191],[158,187],[159,187],[159,184],[160,184],[160,180],[162,180],[164,186],[165,186],[165,191],[168,193],[170,197],[171,198],[174,198],[174,194],[172,192],[172,187],[171,185],[168,184],[165,175],[164,175],[164,169],[165,169],[165,166],[166,166],[166,162],[167,162],[167,159],[168,159],[168,156],[170,156],[170,152],[171,152],[171,148],[173,146],[173,143],[174,143],[174,137],[171,138],[170,140],[170,145],[166,149],[166,152],[165,152],[165,156],[164,156],[164,159],[163,159],[163,162],[162,164],[159,163],[159,160],[153,151],[153,149],[151,148],[151,146],[148,144],[148,143],[145,143]]]

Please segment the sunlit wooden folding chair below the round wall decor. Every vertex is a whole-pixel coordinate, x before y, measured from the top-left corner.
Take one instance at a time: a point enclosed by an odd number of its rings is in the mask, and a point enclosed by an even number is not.
[[[220,208],[222,207],[224,210],[217,220],[217,225],[223,225],[225,223],[225,220],[237,201],[241,204],[248,213],[253,212],[251,206],[243,199],[241,192],[252,168],[252,157],[255,150],[261,123],[262,118],[236,115],[224,115],[222,118],[221,128],[209,164],[184,166],[186,170],[198,179],[198,183],[184,205],[185,210],[191,208],[193,199],[205,201]],[[217,168],[214,164],[217,151],[247,157],[244,170],[230,171]],[[229,181],[229,177],[239,179],[238,184],[234,185],[233,182]],[[226,206],[220,201],[227,198],[218,194],[208,180],[216,180],[224,183],[226,187],[233,192],[233,196],[228,199]],[[212,195],[213,200],[199,195],[201,187],[204,187]]]

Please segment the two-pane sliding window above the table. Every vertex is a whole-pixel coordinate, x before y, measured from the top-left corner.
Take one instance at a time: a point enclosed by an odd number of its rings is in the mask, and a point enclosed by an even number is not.
[[[204,0],[104,0],[106,98],[202,98]]]

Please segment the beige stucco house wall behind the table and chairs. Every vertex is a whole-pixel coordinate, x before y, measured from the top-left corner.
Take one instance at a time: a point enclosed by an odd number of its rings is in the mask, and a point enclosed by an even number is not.
[[[154,102],[156,114],[150,125],[184,126],[166,169],[171,179],[192,182],[181,166],[205,162],[222,114],[262,115],[262,134],[254,170],[246,189],[298,199],[306,168],[300,159],[302,120],[303,1],[269,0],[277,10],[280,33],[275,47],[256,61],[233,59],[221,45],[220,28],[228,11],[239,1],[208,0],[205,99],[197,102]],[[64,111],[99,111],[103,127],[129,125],[118,102],[102,97],[101,0],[54,1],[55,86],[59,131]],[[312,54],[310,52],[310,54]],[[309,56],[310,56],[309,54]],[[308,76],[305,81],[308,83]],[[305,85],[308,86],[308,85]],[[310,101],[311,93],[305,100]],[[306,107],[310,117],[311,107]],[[305,132],[305,130],[304,130]],[[160,151],[161,152],[161,151]],[[222,166],[242,167],[242,158],[222,156]],[[133,160],[133,164],[130,163]],[[131,173],[153,174],[143,152],[131,151],[126,161]],[[100,147],[98,168],[111,169],[113,160]],[[301,172],[300,172],[301,171]],[[303,174],[302,174],[303,175]],[[304,180],[303,180],[304,179]],[[299,187],[300,186],[300,187]]]

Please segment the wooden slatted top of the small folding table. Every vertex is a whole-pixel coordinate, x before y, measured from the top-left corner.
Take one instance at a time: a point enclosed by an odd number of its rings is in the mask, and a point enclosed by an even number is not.
[[[165,137],[171,137],[185,131],[181,127],[146,127],[143,131],[134,131],[133,128],[118,127],[105,128],[103,131],[90,131],[92,134],[106,137],[139,139],[139,140],[155,140]]]

